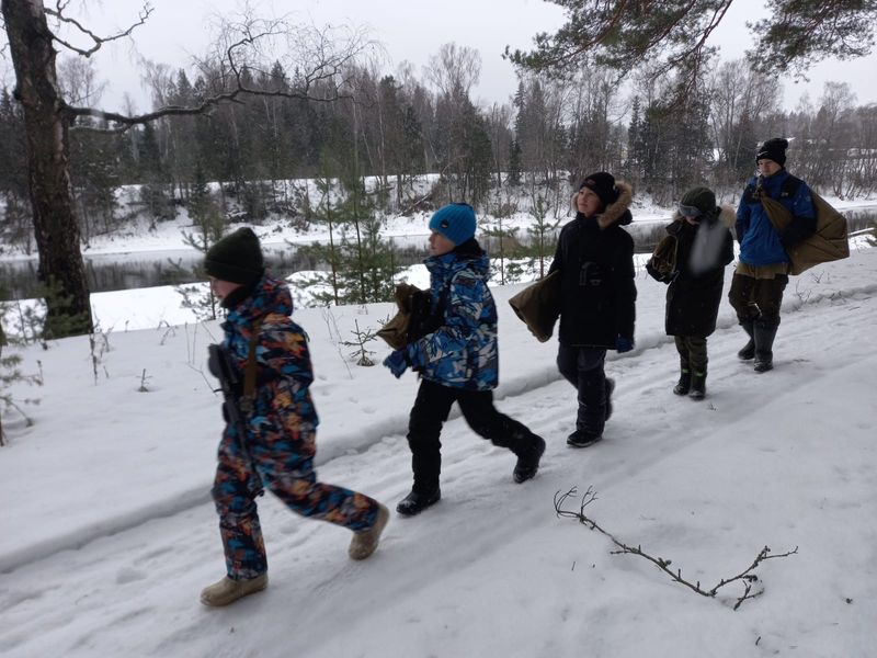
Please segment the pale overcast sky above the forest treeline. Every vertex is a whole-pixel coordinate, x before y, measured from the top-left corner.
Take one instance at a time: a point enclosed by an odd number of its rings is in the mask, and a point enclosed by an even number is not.
[[[501,58],[505,45],[527,48],[537,32],[554,31],[563,21],[560,8],[542,0],[251,0],[264,15],[291,14],[292,18],[322,26],[348,23],[365,26],[372,38],[386,52],[384,69],[394,72],[403,60],[422,69],[442,44],[455,42],[479,50],[481,80],[474,95],[485,103],[504,102],[514,92],[516,80],[512,66]],[[95,30],[110,31],[136,21],[143,5],[139,0],[88,0],[83,23]],[[239,10],[241,0],[151,0],[155,9],[146,25],[137,27],[134,39],[101,50],[95,56],[99,78],[109,82],[102,107],[121,110],[125,92],[139,110],[148,109],[148,94],[135,65],[138,56],[173,68],[191,70],[193,55],[203,54],[208,45],[209,16]],[[744,21],[759,18],[753,5],[761,3],[738,0],[716,34],[725,59],[741,57],[751,38]],[[73,3],[75,9],[80,5]],[[755,11],[763,11],[756,9]],[[8,61],[7,68],[8,66]],[[827,80],[848,82],[858,103],[877,102],[877,55],[868,58],[818,65],[810,71],[810,83],[784,83],[786,109],[794,109],[808,91],[816,101]],[[4,81],[11,84],[9,71]]]

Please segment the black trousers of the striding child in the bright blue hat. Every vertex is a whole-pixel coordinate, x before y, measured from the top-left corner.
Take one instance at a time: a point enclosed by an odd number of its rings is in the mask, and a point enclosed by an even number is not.
[[[442,442],[438,438],[454,402],[459,405],[463,418],[472,431],[493,445],[508,447],[520,455],[536,441],[523,423],[497,410],[492,390],[464,390],[423,379],[408,422],[413,488],[421,494],[431,494],[438,487],[442,472]]]

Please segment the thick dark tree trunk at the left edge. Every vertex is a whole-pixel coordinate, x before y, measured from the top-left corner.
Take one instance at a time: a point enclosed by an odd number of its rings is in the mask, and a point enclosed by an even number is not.
[[[92,318],[70,193],[69,118],[58,92],[52,34],[42,2],[2,0],[0,7],[15,68],[15,98],[24,111],[38,274],[52,290],[45,333],[60,338],[87,332]]]

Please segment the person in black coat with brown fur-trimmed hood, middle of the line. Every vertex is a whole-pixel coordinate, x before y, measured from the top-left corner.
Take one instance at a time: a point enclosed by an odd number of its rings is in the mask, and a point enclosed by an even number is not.
[[[557,366],[578,390],[576,431],[567,439],[585,447],[603,438],[612,415],[606,350],[634,349],[637,288],[631,188],[605,171],[586,177],[573,197],[576,219],[560,231],[549,273],[560,272],[560,347]]]

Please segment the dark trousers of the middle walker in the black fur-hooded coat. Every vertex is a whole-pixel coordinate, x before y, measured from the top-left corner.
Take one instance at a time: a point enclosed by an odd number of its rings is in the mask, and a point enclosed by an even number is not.
[[[560,343],[557,367],[579,393],[576,429],[603,434],[606,424],[605,348],[571,348]]]

